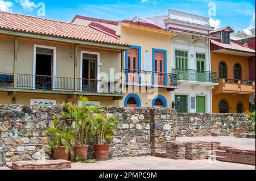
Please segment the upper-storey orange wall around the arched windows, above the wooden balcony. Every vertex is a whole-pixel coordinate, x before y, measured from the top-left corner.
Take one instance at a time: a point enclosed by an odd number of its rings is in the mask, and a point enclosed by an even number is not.
[[[218,64],[220,61],[225,61],[226,65],[228,65],[228,78],[234,79],[234,64],[239,63],[242,66],[242,78],[243,80],[248,80],[248,58],[242,56],[236,56],[233,54],[224,54],[224,53],[216,53],[211,52],[211,64],[212,71],[218,72]]]

